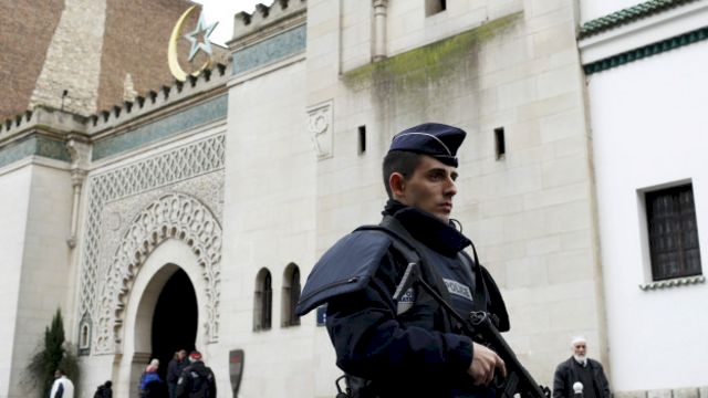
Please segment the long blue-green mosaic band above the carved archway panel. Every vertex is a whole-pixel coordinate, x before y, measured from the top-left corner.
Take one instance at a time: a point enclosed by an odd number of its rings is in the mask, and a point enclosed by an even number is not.
[[[122,154],[197,126],[226,118],[227,106],[228,97],[221,95],[127,133],[97,140],[93,146],[92,159],[98,160]]]

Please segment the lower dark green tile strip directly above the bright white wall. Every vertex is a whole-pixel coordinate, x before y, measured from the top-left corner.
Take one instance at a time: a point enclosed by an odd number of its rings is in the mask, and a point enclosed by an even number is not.
[[[670,39],[662,40],[656,43],[625,51],[623,53],[589,63],[586,65],[583,65],[583,70],[585,71],[586,75],[591,75],[593,73],[617,67],[652,55],[660,54],[663,52],[676,50],[684,45],[698,43],[706,39],[708,39],[708,28],[697,29],[695,31],[679,34]]]

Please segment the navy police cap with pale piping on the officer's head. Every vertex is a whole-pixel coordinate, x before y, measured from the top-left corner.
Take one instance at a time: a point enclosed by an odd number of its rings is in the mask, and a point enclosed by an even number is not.
[[[396,134],[388,151],[404,150],[431,156],[448,166],[458,166],[457,149],[462,145],[465,130],[439,124],[424,123]]]

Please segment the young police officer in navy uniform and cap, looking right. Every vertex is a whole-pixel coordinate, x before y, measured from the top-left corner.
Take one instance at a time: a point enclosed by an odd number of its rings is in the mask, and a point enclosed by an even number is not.
[[[471,241],[450,219],[465,136],[436,123],[395,135],[383,163],[389,200],[382,226],[398,232],[357,229],[325,252],[308,277],[296,311],[303,315],[327,304],[336,364],[355,397],[482,397],[491,394],[486,386],[496,373],[506,376],[503,360],[462,335],[426,291],[410,287],[394,300],[407,265],[394,241],[404,237],[415,241],[427,270],[423,277],[457,313],[486,311],[500,331],[509,329],[497,285],[464,251]]]

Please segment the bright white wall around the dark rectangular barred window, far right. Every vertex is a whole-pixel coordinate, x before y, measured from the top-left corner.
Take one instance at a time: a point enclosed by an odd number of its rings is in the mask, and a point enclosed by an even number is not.
[[[683,181],[694,188],[705,275],[707,54],[700,42],[587,80],[614,390],[708,385],[708,286],[639,289],[652,282],[642,192]]]

